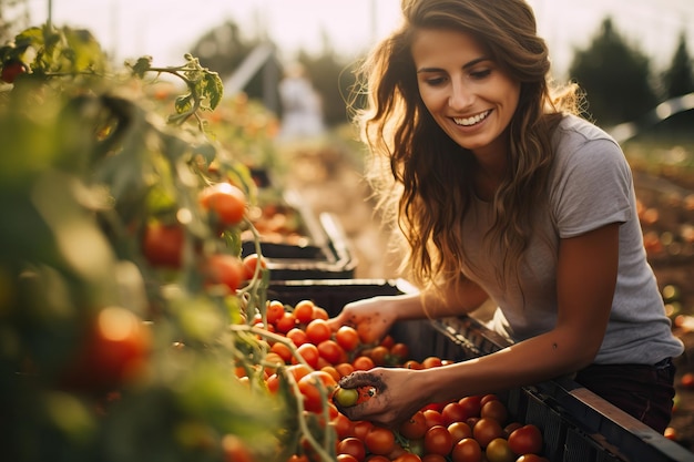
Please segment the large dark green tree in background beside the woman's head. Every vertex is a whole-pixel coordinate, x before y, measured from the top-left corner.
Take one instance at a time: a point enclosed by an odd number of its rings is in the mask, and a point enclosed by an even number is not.
[[[649,59],[625,42],[611,18],[604,19],[588,49],[575,52],[569,72],[585,91],[588,111],[601,125],[637,120],[657,103]]]

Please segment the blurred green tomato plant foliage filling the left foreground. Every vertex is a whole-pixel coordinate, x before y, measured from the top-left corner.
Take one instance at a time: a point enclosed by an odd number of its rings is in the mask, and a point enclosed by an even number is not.
[[[180,66],[152,68],[143,57],[112,69],[91,34],[69,28],[30,28],[0,50],[3,65],[25,64],[0,84],[2,459],[223,461],[235,437],[258,460],[280,460],[298,438],[298,425],[284,425],[297,419],[287,412],[295,399],[263,387],[267,343],[244,324],[263,291],[237,297],[201,276],[205,256],[238,255],[249,226],[220,238],[201,188],[232,176],[254,188],[201,131],[200,113],[222,102],[218,75],[192,55]],[[167,116],[152,90],[162,74],[184,83]],[[152,222],[184,227],[180,269],[143,256]],[[93,352],[84,342],[105,308],[142,320],[133,342],[147,345],[144,362],[127,380],[73,387],[65,373]],[[246,384],[235,378],[239,365],[252,371]],[[88,383],[98,373],[80,372]]]

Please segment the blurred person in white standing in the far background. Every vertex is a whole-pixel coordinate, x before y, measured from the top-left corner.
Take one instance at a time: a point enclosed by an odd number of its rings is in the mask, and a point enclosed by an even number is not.
[[[296,141],[320,136],[324,132],[320,96],[306,78],[302,64],[293,63],[287,66],[278,91],[283,111],[279,140]]]

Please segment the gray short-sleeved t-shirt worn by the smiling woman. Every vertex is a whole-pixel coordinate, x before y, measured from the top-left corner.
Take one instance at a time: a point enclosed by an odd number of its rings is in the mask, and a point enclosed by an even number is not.
[[[498,305],[491,327],[517,341],[551,330],[557,321],[559,240],[620,223],[616,288],[595,362],[653,365],[681,355],[682,341],[672,333],[646,260],[632,173],[622,150],[602,130],[576,116],[564,117],[553,146],[557,157],[548,209],[539,214],[539,228],[519,275],[522,290],[516,280],[506,287],[497,284],[494,268],[503,249],[494,249],[493,255],[484,251],[482,237],[493,222],[491,204],[476,198],[465,218],[463,273]]]

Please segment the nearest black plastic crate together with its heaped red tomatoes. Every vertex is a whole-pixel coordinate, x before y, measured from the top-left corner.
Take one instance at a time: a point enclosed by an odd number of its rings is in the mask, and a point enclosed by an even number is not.
[[[330,400],[360,402],[372,390],[344,390],[338,380],[355,369],[376,366],[430,368],[504,348],[509,343],[470,317],[398,322],[379,345],[363,345],[348,327],[330,333],[324,321],[353,300],[407,290],[392,280],[278,281],[268,297],[267,326],[290,340],[310,366],[305,369],[282,345],[271,352],[286,362],[304,394],[305,412],[328,415],[335,456],[341,462],[417,461],[692,461],[694,454],[624,414],[570,380],[555,380],[504,393],[461,397],[431,403],[396,431],[353,422]],[[273,302],[271,302],[273,304]],[[274,314],[273,310],[276,310]],[[282,359],[280,359],[282,358]],[[268,376],[271,390],[277,374]],[[320,404],[317,382],[328,404]],[[313,384],[312,384],[313,383]],[[333,394],[330,394],[333,393]],[[317,420],[320,420],[317,418]],[[315,460],[298,444],[292,462]]]

